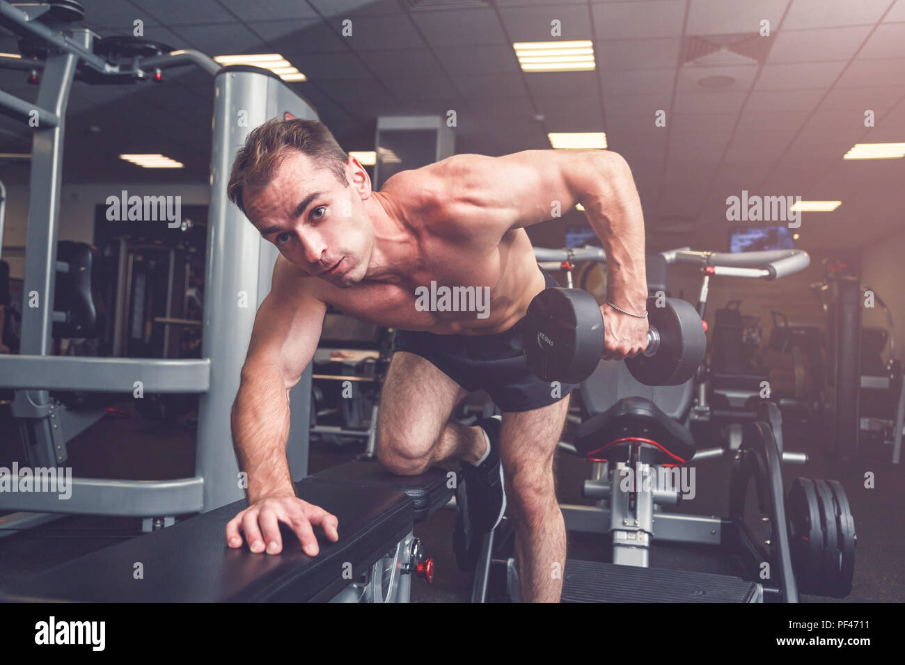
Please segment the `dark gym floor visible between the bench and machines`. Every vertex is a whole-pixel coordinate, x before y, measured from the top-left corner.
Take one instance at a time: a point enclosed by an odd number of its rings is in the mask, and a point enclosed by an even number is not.
[[[131,413],[127,402],[119,404]],[[5,421],[8,423],[8,421]],[[0,428],[0,466],[19,459],[17,434]],[[567,431],[568,433],[568,431]],[[568,438],[568,436],[566,437]],[[855,518],[858,547],[852,594],[840,601],[803,596],[806,603],[882,602],[905,600],[905,470],[893,467],[889,450],[877,451],[843,465],[824,464],[824,437],[802,427],[785,428],[786,450],[811,456],[806,467],[786,467],[786,486],[795,476],[826,478],[842,482]],[[699,441],[699,447],[714,442]],[[352,459],[363,443],[343,448],[312,442],[310,472],[328,469]],[[194,474],[195,432],[178,424],[167,427],[148,423],[136,415],[119,419],[108,416],[70,442],[72,473],[81,477],[164,480]],[[886,461],[882,456],[886,455]],[[871,472],[874,488],[865,489],[865,474]],[[729,487],[729,462],[704,461],[697,467],[697,496],[683,502],[682,512],[725,514]],[[557,497],[562,503],[593,504],[582,499],[583,480],[590,465],[566,452],[557,451]],[[2,518],[0,518],[2,519]],[[452,556],[454,513],[441,510],[415,527],[436,565],[434,584],[413,584],[413,601],[419,603],[465,603],[471,597],[472,575],[461,573]],[[2,528],[2,523],[0,523]],[[0,588],[25,575],[33,575],[125,537],[139,534],[135,518],[67,517],[10,537],[0,538]],[[608,552],[600,537],[569,534],[570,558],[606,561]],[[686,546],[657,544],[651,565],[678,570],[738,574],[736,562],[719,553]]]

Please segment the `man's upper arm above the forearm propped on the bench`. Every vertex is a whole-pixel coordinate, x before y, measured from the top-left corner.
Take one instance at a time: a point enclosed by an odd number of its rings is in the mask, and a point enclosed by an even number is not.
[[[254,318],[246,366],[256,362],[277,366],[287,389],[299,382],[318,347],[327,306],[311,292],[313,278],[278,264],[271,292]]]

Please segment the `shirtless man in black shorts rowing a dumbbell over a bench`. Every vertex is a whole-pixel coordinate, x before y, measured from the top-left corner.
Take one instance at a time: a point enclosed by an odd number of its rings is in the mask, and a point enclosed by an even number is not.
[[[228,195],[280,250],[271,292],[255,318],[233,404],[233,442],[248,473],[249,508],[226,527],[231,547],[277,554],[279,524],[317,556],[312,527],[338,539],[338,520],[295,496],[285,446],[289,391],[318,346],[327,305],[398,328],[377,419],[377,459],[400,475],[462,463],[454,546],[473,565],[474,543],[507,507],[515,527],[521,598],[558,602],[566,528],[553,456],[567,395],[532,375],[522,357],[529,302],[556,281],[538,270],[524,227],[585,207],[607,256],[608,300],[645,310],[641,202],[624,159],[606,150],[528,150],[505,157],[456,155],[403,171],[375,192],[361,164],[312,120],[271,120],[233,163]],[[424,311],[415,290],[489,287],[489,316]],[[601,308],[602,357],[636,356],[647,321]],[[466,427],[450,420],[473,390],[502,412]],[[505,489],[505,494],[504,490]],[[265,545],[266,544],[266,545]],[[557,566],[558,565],[558,566]]]

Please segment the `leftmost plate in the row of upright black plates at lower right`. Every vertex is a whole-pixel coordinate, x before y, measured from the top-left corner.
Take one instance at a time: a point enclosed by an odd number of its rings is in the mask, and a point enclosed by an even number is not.
[[[786,522],[798,590],[803,594],[816,594],[823,565],[824,532],[820,526],[813,480],[796,478],[792,481],[786,497]]]

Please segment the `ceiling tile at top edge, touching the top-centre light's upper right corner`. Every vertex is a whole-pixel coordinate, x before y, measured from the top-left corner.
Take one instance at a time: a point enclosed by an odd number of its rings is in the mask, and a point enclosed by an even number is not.
[[[685,3],[672,0],[635,0],[631,3],[591,5],[597,39],[678,37]]]

